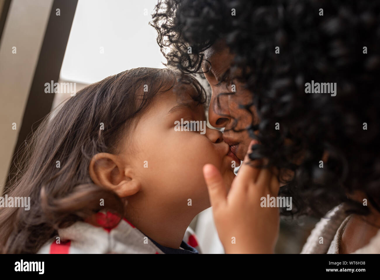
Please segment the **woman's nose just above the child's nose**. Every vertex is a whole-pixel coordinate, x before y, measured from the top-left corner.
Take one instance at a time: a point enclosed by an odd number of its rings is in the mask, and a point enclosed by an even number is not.
[[[212,88],[209,107],[209,122],[213,127],[226,127],[231,121],[228,107],[228,95],[218,92]]]

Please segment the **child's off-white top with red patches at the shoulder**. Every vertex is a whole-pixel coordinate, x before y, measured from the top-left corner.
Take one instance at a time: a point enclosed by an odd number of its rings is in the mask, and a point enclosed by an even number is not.
[[[58,237],[46,242],[39,254],[164,254],[152,240],[126,219],[111,212],[96,214],[100,226],[78,221],[68,228],[58,230]],[[119,222],[120,220],[120,222]],[[201,250],[193,230],[188,227],[184,242]],[[182,244],[184,244],[182,242]],[[167,248],[162,247],[161,248]],[[169,248],[168,248],[169,249]],[[186,249],[186,248],[179,248]],[[174,249],[177,250],[177,249]],[[195,250],[194,250],[195,251]],[[189,251],[189,253],[194,253]]]

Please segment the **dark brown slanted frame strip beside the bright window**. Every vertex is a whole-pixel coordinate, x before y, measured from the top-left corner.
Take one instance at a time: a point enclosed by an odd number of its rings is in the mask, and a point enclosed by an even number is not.
[[[6,2],[10,5],[11,0],[6,0]],[[78,0],[54,0],[53,2],[3,194],[9,192],[9,186],[14,179],[17,170],[15,164],[19,162],[17,157],[22,156],[17,155],[18,151],[22,151],[25,140],[31,136],[44,116],[51,111],[54,93],[45,93],[44,84],[51,81],[58,82],[77,4]],[[60,16],[56,15],[57,8],[60,9]]]

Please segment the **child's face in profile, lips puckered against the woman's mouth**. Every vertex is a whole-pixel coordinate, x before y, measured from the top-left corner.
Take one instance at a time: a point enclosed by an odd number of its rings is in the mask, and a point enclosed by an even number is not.
[[[175,121],[181,118],[206,121],[204,107],[190,97],[192,92],[193,87],[187,85],[159,95],[130,134],[122,156],[133,167],[141,189],[128,197],[128,205],[140,209],[160,206],[196,215],[210,207],[202,172],[207,163],[220,170],[226,188],[230,188],[235,177],[231,167],[234,159],[227,156],[230,147],[223,142],[222,133],[208,127],[201,127],[204,134],[174,129]]]

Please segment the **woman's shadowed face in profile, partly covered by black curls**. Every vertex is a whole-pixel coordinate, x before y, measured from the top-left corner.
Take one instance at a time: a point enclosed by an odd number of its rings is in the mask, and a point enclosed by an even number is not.
[[[242,87],[241,83],[231,84],[230,81],[223,81],[217,86],[223,73],[230,68],[233,55],[223,43],[218,43],[204,52],[205,60],[211,64],[203,65],[204,76],[211,86],[212,96],[209,107],[209,122],[213,127],[225,127],[223,140],[231,146],[231,151],[243,160],[247,153],[248,146],[252,140],[245,130],[252,123],[258,123],[258,116],[255,108],[250,107],[253,112],[239,108],[239,105],[252,103],[252,93]],[[230,92],[233,94],[220,95]],[[219,96],[219,97],[218,97]],[[244,130],[236,132],[234,130]]]

